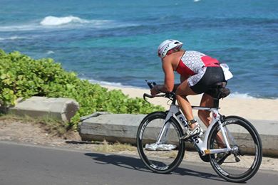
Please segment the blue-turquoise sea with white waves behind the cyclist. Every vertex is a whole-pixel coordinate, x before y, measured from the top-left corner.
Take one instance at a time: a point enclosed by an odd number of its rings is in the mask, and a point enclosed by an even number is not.
[[[278,98],[277,0],[0,0],[1,49],[92,83],[163,83],[157,48],[168,38],[227,63],[233,95]]]

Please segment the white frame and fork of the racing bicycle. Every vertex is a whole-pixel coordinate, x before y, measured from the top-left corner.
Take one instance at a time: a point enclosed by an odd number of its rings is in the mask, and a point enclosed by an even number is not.
[[[210,126],[207,127],[207,130],[205,132],[204,139],[202,140],[200,137],[193,137],[192,142],[194,143],[195,147],[197,148],[198,152],[202,154],[202,156],[205,156],[206,154],[217,154],[222,152],[230,152],[232,149],[230,147],[230,144],[227,139],[227,130],[222,126],[222,122],[220,121],[220,114],[218,112],[217,108],[213,107],[192,107],[194,110],[208,110],[212,112],[212,122],[210,123]],[[187,122],[185,121],[185,116],[180,111],[180,107],[178,105],[172,104],[170,105],[170,110],[165,118],[164,126],[160,130],[160,134],[157,139],[157,144],[163,143],[165,139],[167,139],[168,136],[168,129],[170,127],[170,118],[173,117],[177,122],[180,123],[181,127],[185,129],[185,131],[188,129]],[[209,137],[209,134],[212,130],[212,127],[218,124],[220,126],[222,137],[224,139],[224,142],[226,144],[226,148],[222,149],[207,149],[207,139]]]

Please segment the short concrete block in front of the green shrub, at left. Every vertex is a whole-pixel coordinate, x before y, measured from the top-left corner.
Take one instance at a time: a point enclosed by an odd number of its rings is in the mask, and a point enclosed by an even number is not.
[[[30,97],[24,101],[18,100],[15,107],[8,109],[14,115],[29,115],[30,117],[51,117],[63,122],[69,122],[79,109],[78,102],[71,98]]]

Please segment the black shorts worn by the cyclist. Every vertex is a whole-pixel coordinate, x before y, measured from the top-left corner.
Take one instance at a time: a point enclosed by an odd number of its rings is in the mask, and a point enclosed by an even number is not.
[[[206,93],[213,95],[214,91],[210,90],[212,85],[219,82],[225,82],[224,73],[221,67],[207,67],[202,78],[190,88],[196,94]]]

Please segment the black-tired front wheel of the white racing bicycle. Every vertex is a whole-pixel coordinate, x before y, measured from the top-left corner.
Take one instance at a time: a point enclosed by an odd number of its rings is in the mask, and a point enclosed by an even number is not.
[[[155,124],[158,124],[157,122],[160,120],[161,124],[165,122],[166,112],[153,112],[147,115],[142,122],[140,123],[138,127],[137,132],[137,149],[138,153],[140,155],[140,158],[144,162],[145,166],[148,167],[151,171],[154,171],[159,174],[168,174],[170,171],[173,171],[177,168],[177,166],[180,165],[182,162],[182,159],[185,154],[185,142],[183,142],[180,137],[182,136],[182,128],[180,127],[180,124],[174,120],[173,118],[170,119],[170,127],[171,131],[170,134],[177,134],[175,137],[177,137],[177,142],[175,142],[178,146],[177,149],[171,151],[175,153],[175,157],[172,156],[171,159],[173,159],[173,162],[169,162],[169,159],[165,159],[164,157],[161,157],[160,154],[164,153],[165,151],[153,151],[153,154],[151,154],[150,151],[146,149],[146,142],[150,142],[150,138],[147,138],[148,134],[151,134],[155,136],[154,138],[158,137],[157,132],[154,132],[154,126]],[[162,125],[160,125],[162,127]],[[161,128],[160,127],[160,128]],[[160,130],[160,129],[159,129]],[[173,135],[170,135],[173,137]],[[173,137],[173,138],[175,138]],[[153,141],[155,142],[155,141]],[[170,139],[168,141],[170,143]],[[165,143],[163,143],[165,144]],[[152,156],[150,156],[152,155]],[[167,156],[167,155],[166,155]],[[155,158],[155,159],[154,159]]]

